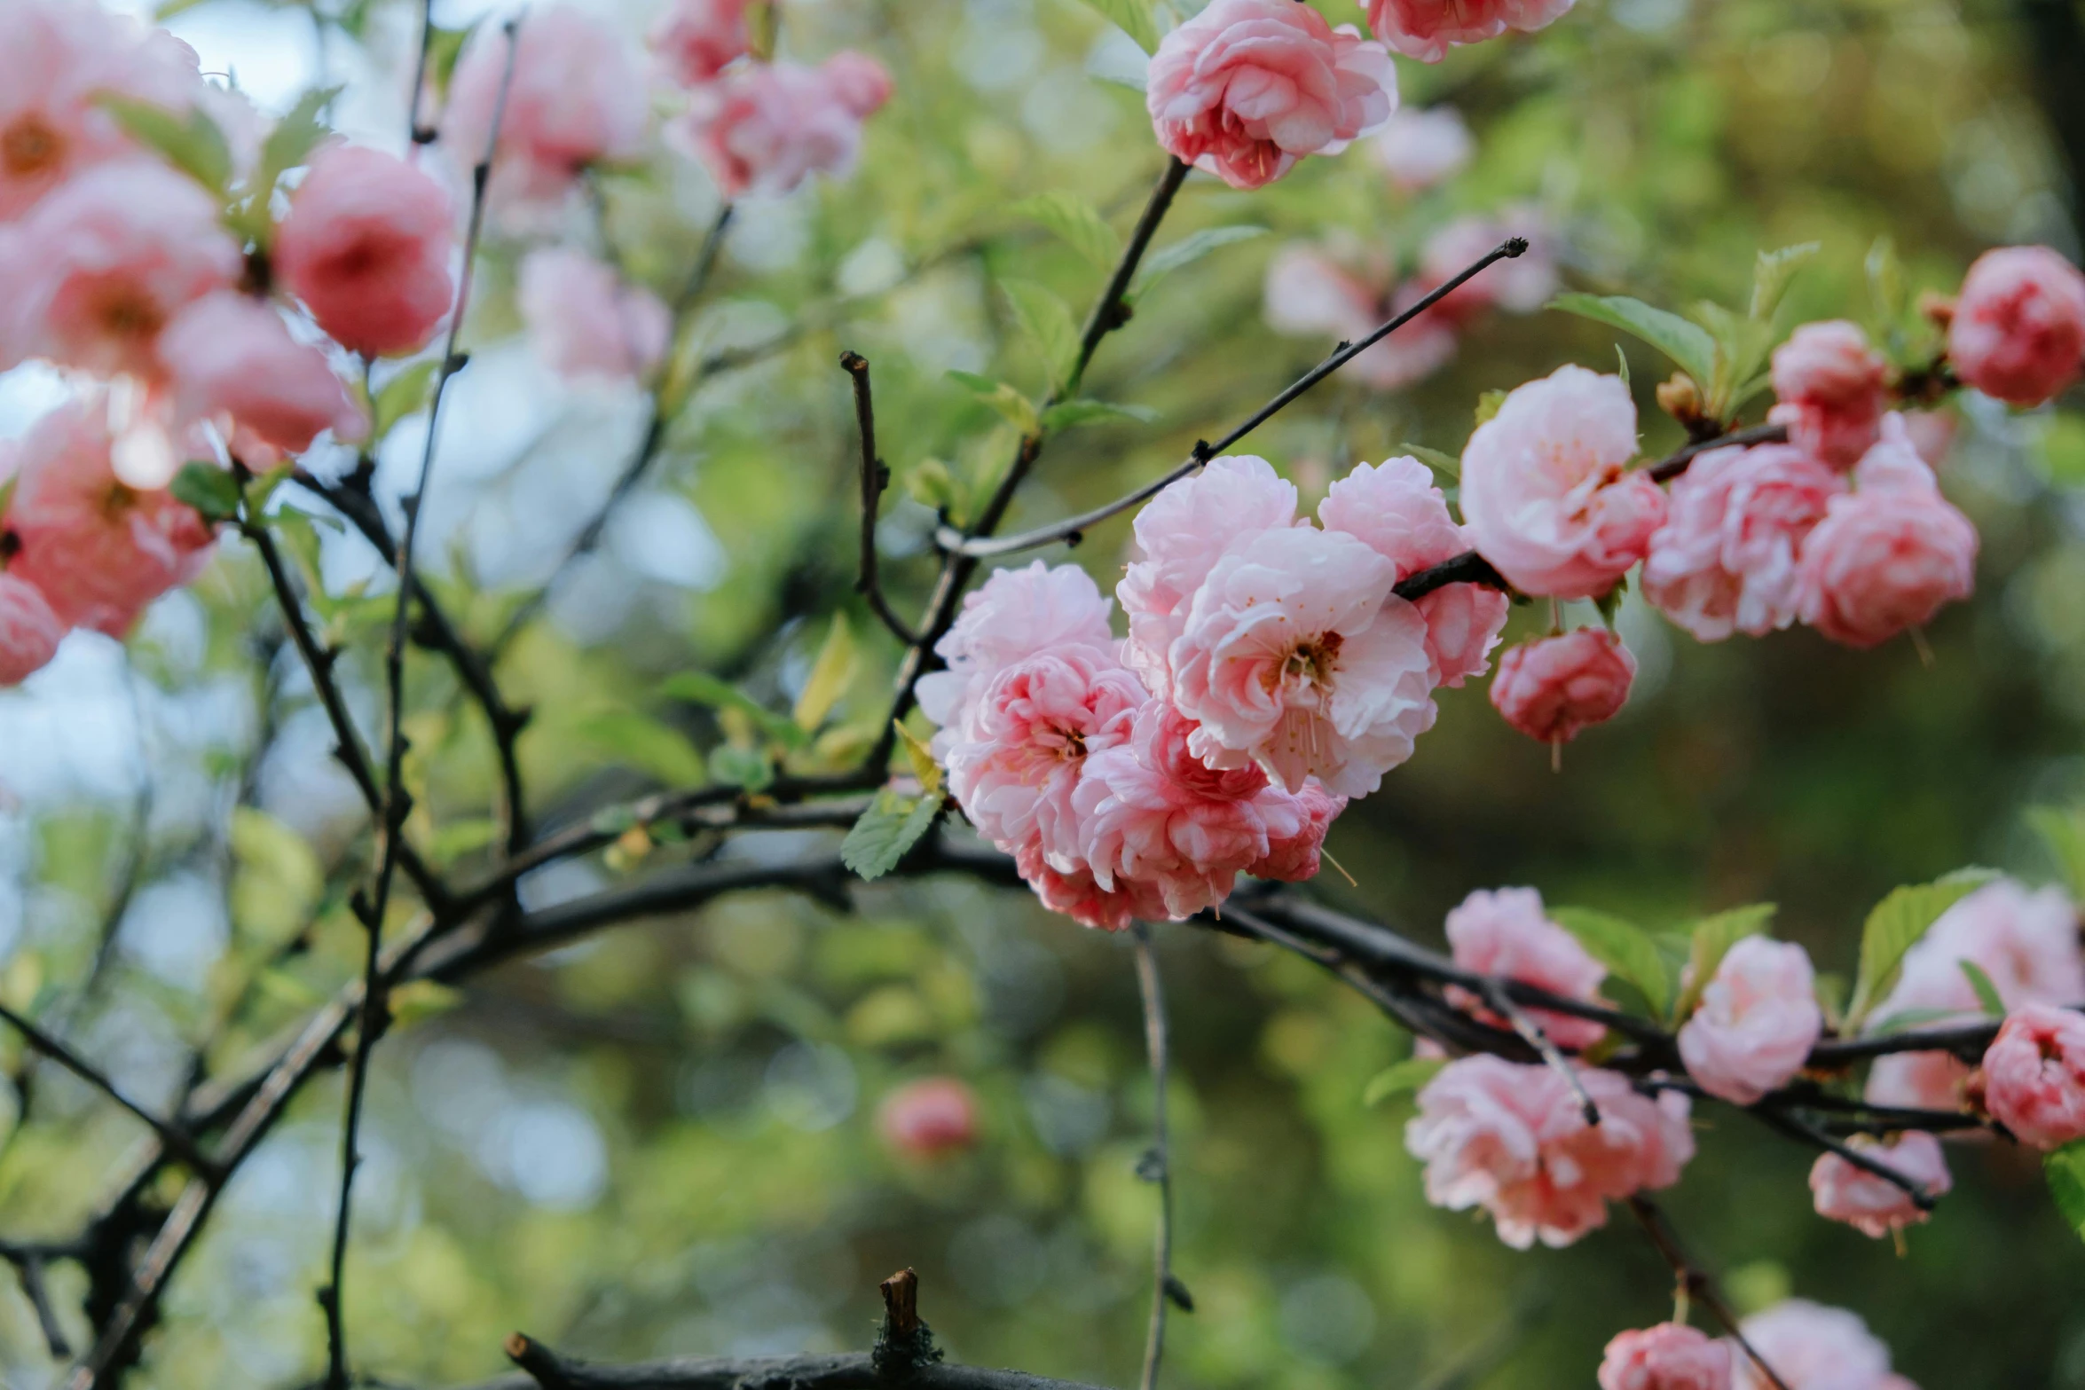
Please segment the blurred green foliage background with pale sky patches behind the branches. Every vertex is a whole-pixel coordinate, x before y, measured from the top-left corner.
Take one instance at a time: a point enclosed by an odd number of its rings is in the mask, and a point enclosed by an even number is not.
[[[1347,0],[1322,8],[1357,19]],[[907,488],[961,508],[1009,448],[945,373],[1028,390],[1040,377],[995,277],[1040,279],[1074,304],[1101,279],[1009,206],[1072,190],[1120,227],[1159,167],[1132,85],[1140,54],[1076,0],[782,10],[784,52],[865,48],[897,98],[851,181],[740,210],[696,333],[755,361],[703,386],[605,544],[502,661],[513,698],[538,709],[521,750],[553,823],[701,779],[717,729],[661,681],[707,669],[786,704],[853,602],[842,346],[874,363],[899,473],[880,527],[892,588],[901,606],[924,600],[932,511]],[[651,19],[638,2],[613,13],[632,42]],[[477,17],[436,4],[444,27]],[[340,127],[402,144],[415,6],[202,0],[169,23],[263,108],[346,83]],[[1795,317],[1866,317],[1862,267],[1883,235],[1914,290],[1949,290],[1993,244],[2079,254],[2085,10],[2068,0],[1580,0],[1539,35],[1399,75],[1407,104],[1464,115],[1468,169],[1399,192],[1355,148],[1251,196],[1191,181],[1161,246],[1197,227],[1266,233],[1138,302],[1088,394],[1157,423],[1063,436],[1011,525],[1151,477],[1322,354],[1261,321],[1266,265],[1291,242],[1339,231],[1409,263],[1451,219],[1514,208],[1566,286],[1672,306],[1739,300],[1756,250],[1820,242]],[[705,177],[661,152],[600,190],[630,271],[673,283],[715,210]],[[544,579],[642,423],[634,392],[567,388],[517,338],[515,250],[563,233],[594,229],[573,213],[492,238],[436,467],[423,548],[480,636]],[[1633,342],[1622,352],[1647,446],[1676,442],[1651,406],[1664,365]],[[1403,440],[1455,452],[1487,390],[1566,361],[1612,371],[1614,354],[1585,321],[1497,315],[1424,381],[1334,379],[1249,446],[1316,502]],[[0,433],[60,392],[38,369],[0,377]],[[1445,694],[1418,756],[1332,831],[1357,886],[1320,890],[1422,940],[1499,884],[1651,925],[1772,900],[1820,969],[1849,969],[1860,917],[1895,884],[1968,863],[2052,877],[2020,817],[2085,796],[2085,421],[1970,400],[1956,423],[1943,486],[1983,556],[1977,598],[1927,634],[1931,665],[1908,642],[1845,652],[1810,631],[1701,646],[1630,600],[1620,623],[1643,673],[1614,725],[1551,773],[1480,686]],[[388,440],[379,490],[402,483],[421,431],[409,421]],[[373,554],[315,536],[329,619],[367,634],[388,615]],[[1097,527],[1070,559],[1107,586],[1124,540],[1124,521]],[[1545,619],[1522,613],[1514,631]],[[855,631],[844,709],[859,746],[894,646],[872,623]],[[373,727],[375,667],[346,671]],[[415,667],[430,817],[415,829],[467,865],[488,838],[492,765],[444,679],[434,661]],[[359,804],[248,552],[227,544],[127,648],[75,634],[0,696],[0,996],[56,1000],[65,1032],[133,1092],[173,1094],[194,1046],[213,1065],[252,1057],[354,971],[342,902],[363,863]],[[763,836],[738,852],[801,848]],[[523,894],[555,902],[671,857],[563,865]],[[876,1280],[915,1265],[951,1355],[1128,1384],[1155,1215],[1132,1171],[1151,1092],[1128,944],[965,882],[857,900],[840,915],[736,898],[417,1000],[425,1017],[386,1040],[371,1082],[348,1265],[359,1367],[409,1386],[490,1375],[515,1327],[615,1359],[855,1348]],[[309,950],[271,963],[313,907]],[[1362,1104],[1409,1040],[1364,1000],[1195,927],[1159,942],[1178,1046],[1176,1271],[1197,1300],[1174,1319],[1168,1384],[1587,1386],[1608,1336],[1668,1313],[1670,1275],[1635,1230],[1518,1255],[1424,1205],[1401,1102]],[[259,1002],[227,1015],[252,982]],[[0,1059],[25,1069],[13,1038]],[[984,1119],[972,1152],[917,1165],[884,1150],[874,1113],[928,1073],[967,1079]],[[338,1119],[327,1079],[240,1175],[173,1286],[148,1384],[290,1386],[321,1363],[311,1290]],[[2031,1161],[1954,1150],[1956,1192],[1899,1259],[1810,1213],[1806,1152],[1728,1111],[1703,1119],[1670,1209],[1743,1307],[1787,1292],[1851,1307],[1927,1390],[2085,1386],[2085,1248]],[[50,1067],[0,1088],[0,1230],[69,1230],[136,1140]],[[54,1277],[77,1294],[71,1271]],[[19,1386],[54,1373],[13,1288],[0,1367]]]

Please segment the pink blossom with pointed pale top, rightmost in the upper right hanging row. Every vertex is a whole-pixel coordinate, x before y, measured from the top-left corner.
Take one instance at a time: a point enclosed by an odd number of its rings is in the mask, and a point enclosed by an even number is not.
[[[1801,617],[1833,642],[1864,648],[1968,598],[1977,527],[1941,496],[1895,417],[1854,469],[1854,486],[1804,540]]]

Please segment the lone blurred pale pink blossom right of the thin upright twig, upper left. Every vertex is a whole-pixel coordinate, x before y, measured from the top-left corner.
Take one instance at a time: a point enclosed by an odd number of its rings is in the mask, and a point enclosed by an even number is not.
[[[523,256],[519,302],[536,350],[565,377],[644,377],[673,329],[659,296],[569,246]]]

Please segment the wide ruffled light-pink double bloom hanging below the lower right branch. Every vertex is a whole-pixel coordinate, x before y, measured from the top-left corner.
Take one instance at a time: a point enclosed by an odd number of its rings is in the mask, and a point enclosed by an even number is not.
[[[1637,1094],[1628,1077],[1578,1067],[1599,1107],[1585,1123],[1578,1098],[1551,1067],[1474,1054],[1451,1061],[1420,1090],[1405,1148],[1426,1163],[1426,1200],[1482,1207],[1499,1240],[1526,1250],[1568,1246],[1605,1225],[1608,1202],[1670,1188],[1693,1159],[1687,1096]]]

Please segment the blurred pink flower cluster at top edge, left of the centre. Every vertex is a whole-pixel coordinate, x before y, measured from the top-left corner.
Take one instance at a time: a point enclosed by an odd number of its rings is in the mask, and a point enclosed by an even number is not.
[[[688,92],[667,138],[696,154],[726,198],[786,194],[813,173],[847,177],[890,77],[859,52],[817,67],[753,54],[746,0],[673,0],[651,31],[665,77]]]

